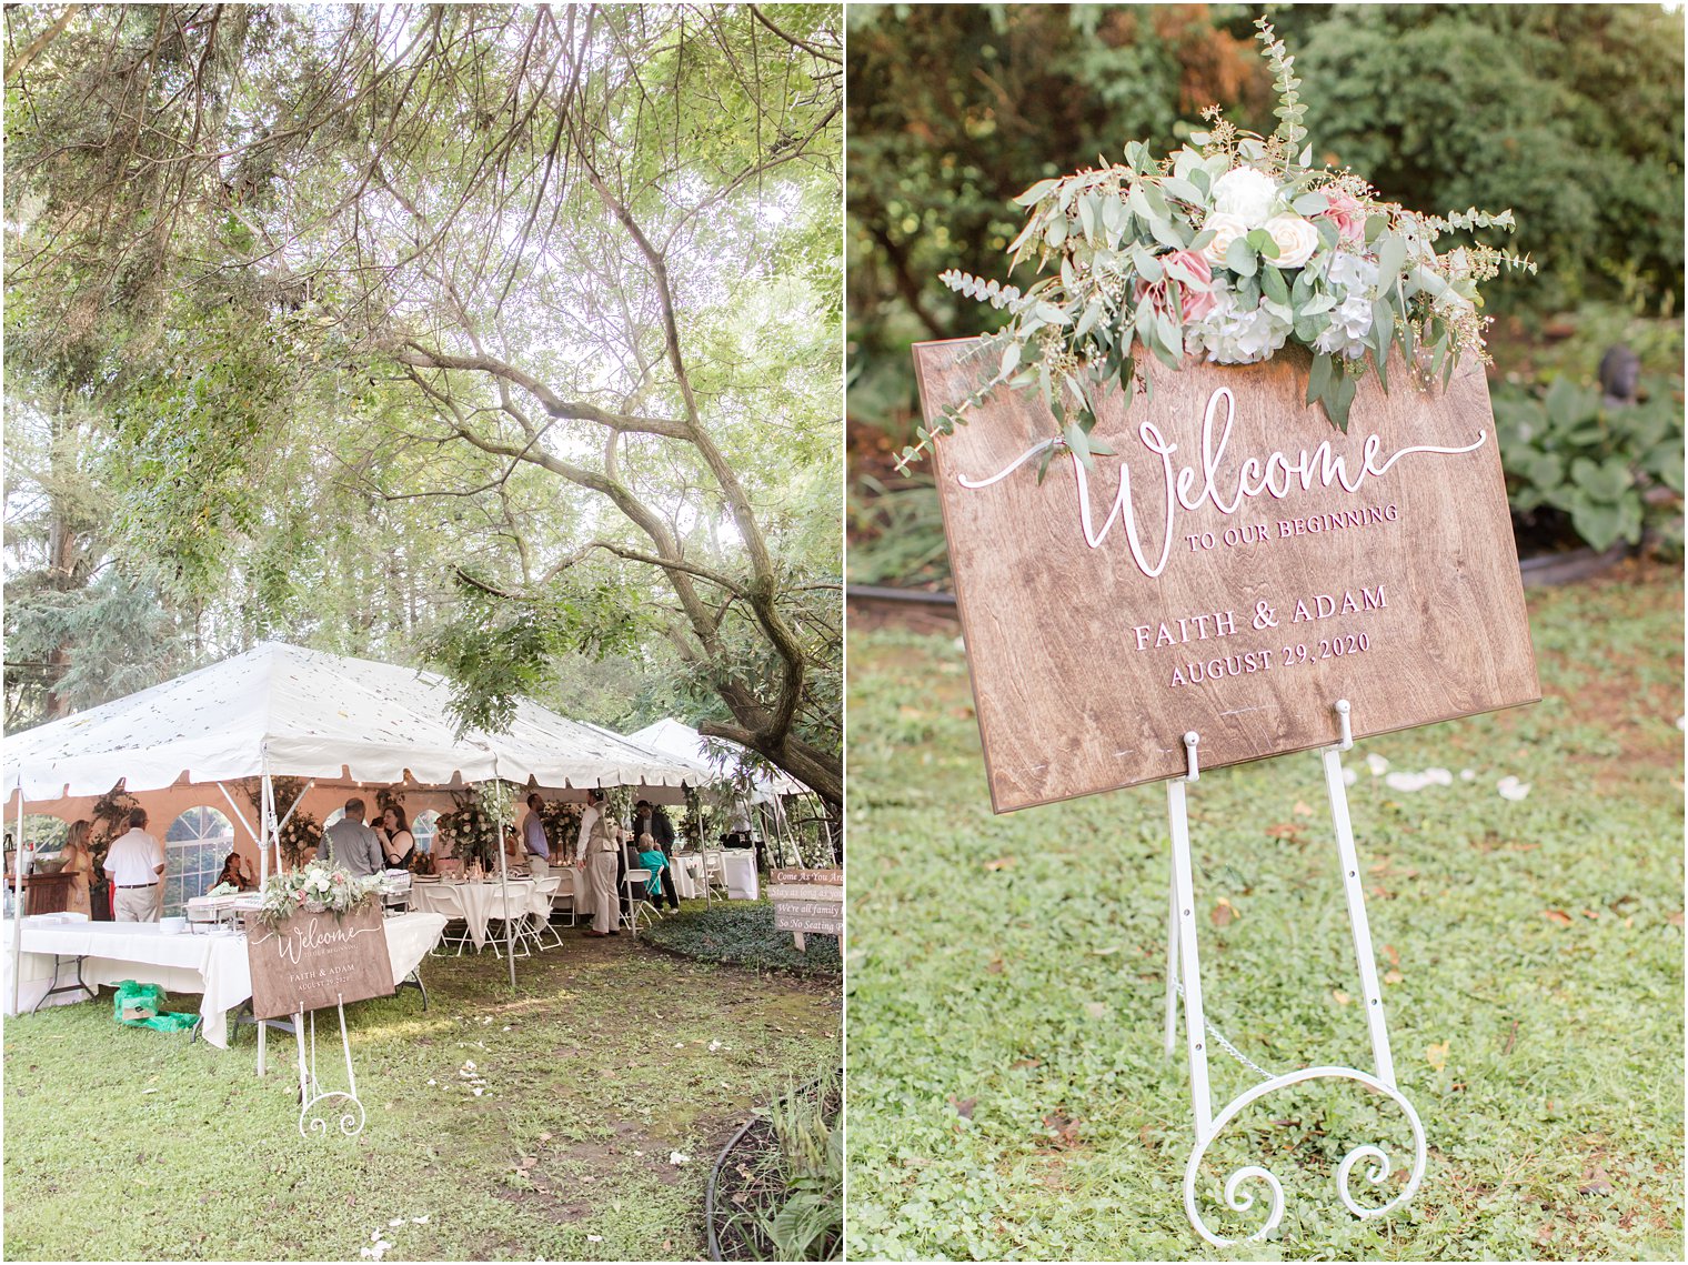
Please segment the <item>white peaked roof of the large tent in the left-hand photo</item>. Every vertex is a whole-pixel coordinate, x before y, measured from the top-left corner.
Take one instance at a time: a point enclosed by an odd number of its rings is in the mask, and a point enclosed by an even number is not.
[[[138,694],[5,741],[5,787],[29,801],[189,782],[349,777],[449,785],[680,785],[690,762],[517,701],[505,733],[457,726],[451,684],[410,667],[263,642]]]

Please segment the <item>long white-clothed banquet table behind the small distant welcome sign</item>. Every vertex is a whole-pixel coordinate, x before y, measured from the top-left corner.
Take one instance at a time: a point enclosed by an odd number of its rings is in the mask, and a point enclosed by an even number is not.
[[[439,942],[446,919],[437,914],[412,912],[383,922],[387,958],[393,986],[410,975]],[[5,988],[12,988],[12,927],[5,934]],[[201,1035],[218,1049],[228,1049],[228,1012],[252,996],[252,968],[246,937],[238,932],[169,934],[159,922],[59,922],[24,919],[19,980],[19,1005],[27,1012],[47,991],[54,958],[81,958],[83,981],[98,990],[125,980],[164,985],[172,993],[199,993]],[[76,978],[74,963],[64,961],[59,981]],[[52,1005],[79,1002],[79,993],[47,998]]]

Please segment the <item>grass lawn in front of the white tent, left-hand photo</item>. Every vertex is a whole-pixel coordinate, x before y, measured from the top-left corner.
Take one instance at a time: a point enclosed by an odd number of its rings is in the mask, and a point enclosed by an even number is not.
[[[299,1137],[292,1039],[260,1081],[250,1029],[125,1029],[110,990],[8,1020],[7,1258],[360,1260],[375,1231],[387,1260],[702,1257],[714,1155],[837,1064],[837,986],[562,936],[515,993],[488,953],[427,959],[427,1013],[414,990],[353,1007],[349,1140]]]

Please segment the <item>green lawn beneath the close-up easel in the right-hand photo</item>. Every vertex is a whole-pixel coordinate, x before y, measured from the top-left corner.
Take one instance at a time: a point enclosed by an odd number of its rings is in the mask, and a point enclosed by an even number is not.
[[[1639,566],[1534,591],[1541,704],[1345,757],[1428,1175],[1357,1221],[1334,1160],[1379,1138],[1345,1127],[1399,1116],[1364,1091],[1269,1096],[1224,1135],[1224,1172],[1269,1165],[1288,1211],[1229,1251],[1182,1208],[1165,792],[993,817],[957,640],[852,633],[849,1253],[1681,1260],[1681,601]],[[1367,755],[1453,784],[1393,790]],[[1528,797],[1502,799],[1506,775]],[[1190,811],[1209,1020],[1274,1072],[1366,1067],[1315,757],[1204,772]],[[1212,1071],[1220,1103],[1252,1084],[1219,1051]],[[1237,1235],[1264,1204],[1204,1209]]]

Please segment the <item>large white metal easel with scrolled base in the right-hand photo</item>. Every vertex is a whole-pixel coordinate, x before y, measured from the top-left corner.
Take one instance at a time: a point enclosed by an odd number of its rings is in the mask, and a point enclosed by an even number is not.
[[[1202,964],[1195,946],[1195,885],[1190,865],[1190,817],[1185,806],[1185,787],[1200,777],[1200,767],[1195,753],[1197,745],[1200,743],[1200,736],[1197,733],[1192,731],[1183,735],[1188,770],[1182,777],[1175,777],[1166,784],[1166,816],[1171,826],[1171,895],[1168,902],[1166,932],[1166,1054],[1171,1056],[1177,1052],[1178,995],[1182,993],[1185,1037],[1190,1054],[1190,1103],[1195,1118],[1195,1145],[1190,1150],[1190,1160],[1185,1164],[1183,1170],[1183,1211],[1190,1218],[1190,1224],[1195,1231],[1217,1246],[1231,1246],[1232,1243],[1239,1243],[1242,1240],[1222,1238],[1215,1235],[1209,1230],[1200,1211],[1197,1209],[1195,1181],[1202,1165],[1202,1157],[1207,1154],[1207,1148],[1214,1143],[1225,1125],[1237,1116],[1237,1113],[1266,1094],[1291,1084],[1315,1079],[1354,1081],[1367,1089],[1374,1089],[1388,1096],[1401,1108],[1403,1113],[1406,1113],[1406,1120],[1413,1128],[1413,1167],[1408,1172],[1406,1186],[1393,1199],[1379,1208],[1364,1208],[1349,1191],[1354,1167],[1361,1162],[1369,1165],[1366,1169],[1366,1179],[1372,1186],[1382,1186],[1382,1182],[1388,1181],[1393,1172],[1393,1162],[1382,1147],[1374,1143],[1359,1145],[1337,1165],[1337,1196],[1354,1216],[1376,1218],[1401,1208],[1418,1192],[1418,1186],[1425,1179],[1425,1127],[1418,1120],[1418,1111],[1413,1110],[1413,1105],[1401,1094],[1394,1081],[1394,1059],[1389,1054],[1389,1027],[1384,1022],[1382,1013],[1382,991],[1377,986],[1377,963],[1372,956],[1371,926],[1366,920],[1366,893],[1361,888],[1361,866],[1354,850],[1354,828],[1349,823],[1349,795],[1342,780],[1342,752],[1354,747],[1349,701],[1339,699],[1335,713],[1340,726],[1340,738],[1334,747],[1322,748],[1318,757],[1325,768],[1325,790],[1330,795],[1330,821],[1337,836],[1337,858],[1342,863],[1342,892],[1349,904],[1349,927],[1354,934],[1354,956],[1359,963],[1361,991],[1366,1000],[1366,1023],[1371,1029],[1372,1061],[1376,1064],[1376,1071],[1372,1072],[1364,1072],[1357,1067],[1318,1066],[1301,1067],[1300,1071],[1286,1072],[1283,1076],[1273,1076],[1258,1064],[1251,1062],[1229,1040],[1225,1040],[1224,1034],[1207,1023],[1202,1015]],[[1182,980],[1180,966],[1183,968]],[[1215,1040],[1220,1049],[1229,1052],[1244,1067],[1261,1078],[1261,1084],[1256,1084],[1252,1089],[1247,1089],[1234,1098],[1217,1115],[1214,1113],[1212,1093],[1207,1081],[1209,1039]],[[1268,1209],[1266,1223],[1252,1235],[1246,1236],[1247,1241],[1259,1241],[1276,1230],[1278,1223],[1283,1219],[1285,1194],[1283,1184],[1271,1174],[1271,1170],[1251,1164],[1237,1169],[1225,1179],[1224,1201],[1227,1208],[1236,1213],[1246,1213],[1252,1208],[1254,1194],[1242,1189],[1242,1184],[1251,1181],[1264,1184],[1271,1194],[1271,1208]]]

